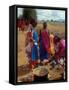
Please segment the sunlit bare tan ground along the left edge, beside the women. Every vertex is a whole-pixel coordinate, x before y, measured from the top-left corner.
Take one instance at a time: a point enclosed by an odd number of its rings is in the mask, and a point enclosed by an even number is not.
[[[25,53],[26,32],[18,31],[18,66],[28,63]]]

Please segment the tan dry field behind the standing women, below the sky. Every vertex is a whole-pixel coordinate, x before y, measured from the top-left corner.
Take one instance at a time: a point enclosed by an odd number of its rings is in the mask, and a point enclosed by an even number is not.
[[[53,32],[53,34],[58,33],[60,37],[65,37],[65,24],[64,23],[48,23],[48,30],[49,32]],[[38,24],[37,25],[38,32],[42,30],[43,25]]]

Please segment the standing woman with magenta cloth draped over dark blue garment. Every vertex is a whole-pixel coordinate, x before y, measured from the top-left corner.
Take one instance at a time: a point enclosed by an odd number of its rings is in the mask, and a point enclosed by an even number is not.
[[[40,34],[40,61],[46,64],[49,61],[50,38],[47,29],[47,23],[43,23],[43,30]]]

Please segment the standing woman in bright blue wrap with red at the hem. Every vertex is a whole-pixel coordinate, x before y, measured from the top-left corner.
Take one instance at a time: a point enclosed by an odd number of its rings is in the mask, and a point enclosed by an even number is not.
[[[31,25],[32,25],[32,40],[33,40],[31,58],[32,58],[32,68],[35,68],[38,60],[38,32],[35,29],[37,25],[36,21],[32,20]]]

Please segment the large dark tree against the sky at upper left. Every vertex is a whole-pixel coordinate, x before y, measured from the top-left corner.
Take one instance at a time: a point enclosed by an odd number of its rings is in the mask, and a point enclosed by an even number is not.
[[[24,8],[23,10],[23,18],[25,20],[31,20],[35,19],[37,20],[37,12],[35,9],[30,9],[30,8]]]

